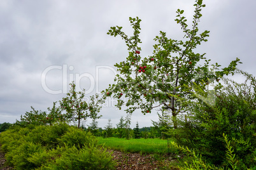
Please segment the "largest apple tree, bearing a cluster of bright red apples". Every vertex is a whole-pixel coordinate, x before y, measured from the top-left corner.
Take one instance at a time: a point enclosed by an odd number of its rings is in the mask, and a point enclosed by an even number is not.
[[[157,107],[170,110],[176,129],[176,115],[187,112],[189,101],[196,100],[192,95],[193,86],[206,91],[209,84],[218,82],[220,77],[234,74],[236,65],[241,63],[238,58],[228,67],[220,69],[218,63],[210,66],[205,53],[195,52],[197,46],[207,41],[210,31],[199,32],[198,28],[205,4],[197,0],[194,7],[192,27],[188,27],[184,11],[176,11],[175,21],[183,30],[183,39],[168,38],[166,32],[160,31],[160,35],[154,39],[156,44],[153,45],[152,56],[143,56],[139,47],[141,20],[138,17],[129,18],[134,29],[131,37],[122,32],[122,27],[110,27],[107,34],[122,37],[129,51],[124,62],[115,64],[119,72],[115,76],[116,83],[103,91],[105,96],[117,98],[118,108],[125,106],[125,111],[129,113],[141,109],[143,114]],[[220,86],[218,82],[215,88]]]

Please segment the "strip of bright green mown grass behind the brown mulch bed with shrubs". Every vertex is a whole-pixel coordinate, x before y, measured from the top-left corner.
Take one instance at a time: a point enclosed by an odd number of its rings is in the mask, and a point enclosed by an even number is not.
[[[141,154],[167,154],[167,140],[155,139],[131,139],[124,138],[102,138],[98,137],[99,145],[111,148],[113,150],[120,150],[122,152],[138,152]],[[170,151],[170,148],[169,148]]]

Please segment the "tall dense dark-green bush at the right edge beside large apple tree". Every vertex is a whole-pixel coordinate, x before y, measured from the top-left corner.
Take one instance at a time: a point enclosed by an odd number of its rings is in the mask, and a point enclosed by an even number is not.
[[[178,145],[194,148],[209,164],[231,168],[226,134],[238,160],[236,168],[247,169],[256,167],[256,81],[250,74],[238,73],[246,76],[245,83],[223,79],[225,86],[216,91],[215,105],[194,103],[186,121],[181,120],[180,128],[171,133]]]

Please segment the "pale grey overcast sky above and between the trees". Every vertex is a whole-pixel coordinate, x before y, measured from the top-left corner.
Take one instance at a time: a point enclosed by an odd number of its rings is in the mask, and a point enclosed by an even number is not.
[[[203,3],[199,30],[210,30],[210,37],[197,51],[222,67],[238,57],[243,62],[238,68],[256,75],[256,1]],[[172,39],[183,37],[174,22],[175,12],[185,10],[190,22],[193,4],[192,0],[1,0],[0,123],[15,122],[31,106],[43,111],[52,107],[53,101],[66,96],[66,82],[72,77],[87,96],[108,88],[116,74],[113,65],[128,56],[125,42],[106,34],[111,26],[122,26],[132,36],[129,16],[141,18],[141,56],[152,55],[153,38],[160,30]],[[112,103],[101,110],[100,127],[108,119],[115,126],[125,117]],[[138,110],[132,115],[132,128],[136,121],[141,128],[152,126],[151,119],[158,119],[157,111],[143,115]]]

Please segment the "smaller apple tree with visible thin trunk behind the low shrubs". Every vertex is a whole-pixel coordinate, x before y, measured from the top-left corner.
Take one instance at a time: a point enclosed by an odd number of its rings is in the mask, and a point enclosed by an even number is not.
[[[86,120],[88,117],[92,119],[99,119],[101,115],[98,113],[101,110],[101,105],[104,103],[104,98],[99,98],[99,95],[90,96],[90,101],[85,101],[85,90],[76,92],[75,83],[71,83],[69,93],[66,98],[60,101],[60,108],[65,111],[65,117],[69,122],[78,121],[78,128],[80,128],[80,121]]]

